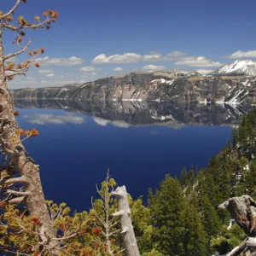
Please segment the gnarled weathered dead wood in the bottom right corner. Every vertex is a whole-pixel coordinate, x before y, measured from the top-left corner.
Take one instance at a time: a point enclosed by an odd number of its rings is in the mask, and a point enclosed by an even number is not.
[[[247,238],[235,247],[227,256],[256,255],[256,202],[249,195],[232,197],[224,201],[220,208],[229,210],[231,218],[247,234]]]

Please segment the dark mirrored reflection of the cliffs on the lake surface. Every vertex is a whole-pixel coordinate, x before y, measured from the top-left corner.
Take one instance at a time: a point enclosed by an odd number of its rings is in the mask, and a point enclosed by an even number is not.
[[[15,99],[16,108],[64,109],[129,125],[237,125],[246,110],[218,104],[171,102],[70,102]]]

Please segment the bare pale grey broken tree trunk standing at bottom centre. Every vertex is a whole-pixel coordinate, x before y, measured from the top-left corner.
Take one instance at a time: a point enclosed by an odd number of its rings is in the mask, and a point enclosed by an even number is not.
[[[127,256],[139,256],[137,247],[137,240],[134,235],[133,226],[131,224],[131,210],[128,203],[128,196],[125,186],[118,187],[112,192],[119,203],[119,211],[113,213],[113,216],[120,216],[120,223],[122,227],[122,237],[125,245],[125,253]]]

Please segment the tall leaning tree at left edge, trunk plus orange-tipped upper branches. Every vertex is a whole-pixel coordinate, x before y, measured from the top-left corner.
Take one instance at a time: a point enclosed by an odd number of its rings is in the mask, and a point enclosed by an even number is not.
[[[10,2],[10,1],[7,1]],[[42,188],[41,179],[39,176],[39,166],[29,157],[26,148],[22,144],[20,134],[17,128],[14,106],[12,98],[9,94],[7,80],[11,80],[15,75],[25,74],[28,68],[36,61],[38,54],[44,53],[44,49],[29,52],[31,59],[20,63],[15,67],[15,63],[10,61],[16,55],[20,55],[32,43],[32,39],[22,46],[21,42],[26,35],[26,30],[31,28],[46,28],[49,29],[49,24],[55,22],[58,14],[52,10],[44,12],[44,21],[41,21],[39,16],[35,17],[36,23],[31,24],[25,20],[24,17],[18,18],[18,24],[14,25],[13,15],[16,12],[20,3],[26,3],[26,0],[16,0],[14,6],[7,13],[0,12],[0,144],[3,153],[9,154],[14,160],[15,166],[20,172],[20,177],[9,178],[1,182],[2,187],[12,183],[21,183],[24,185],[25,191],[19,192],[19,197],[10,200],[9,203],[24,203],[27,210],[33,216],[37,216],[42,224],[38,233],[39,239],[44,245],[49,245],[52,254],[55,254],[56,241],[51,239],[55,237],[55,229],[52,221],[49,218],[49,212],[44,203],[44,192]],[[3,51],[3,32],[7,29],[15,32],[17,37],[13,44],[17,44],[19,51],[4,55]],[[39,64],[35,64],[39,67]],[[32,136],[32,134],[31,134]],[[16,191],[9,190],[9,194],[16,194]]]

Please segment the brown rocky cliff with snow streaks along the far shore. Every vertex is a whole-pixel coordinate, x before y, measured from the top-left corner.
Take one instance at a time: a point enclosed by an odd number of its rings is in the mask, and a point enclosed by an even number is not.
[[[195,77],[172,73],[129,73],[63,87],[20,89],[14,98],[73,101],[226,102],[255,101],[253,77]]]

